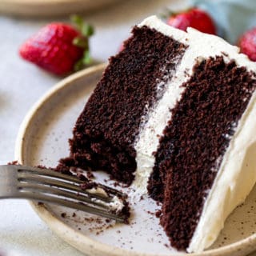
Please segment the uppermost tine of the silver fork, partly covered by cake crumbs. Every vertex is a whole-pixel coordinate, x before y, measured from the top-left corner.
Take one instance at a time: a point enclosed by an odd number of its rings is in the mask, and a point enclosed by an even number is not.
[[[76,176],[62,174],[60,172],[45,169],[45,168],[31,167],[31,166],[18,166],[18,171],[30,172],[30,173],[33,173],[33,174],[37,173],[37,174],[42,175],[42,176],[60,178],[60,179],[63,179],[65,182],[70,181],[70,182],[76,182],[78,184],[83,184],[84,183],[84,181],[77,178]],[[121,191],[115,190],[114,188],[110,188],[110,187],[104,186],[102,184],[99,184],[98,187],[102,188],[103,190],[107,190],[110,194],[120,195],[122,197],[125,196],[125,194],[123,194]]]

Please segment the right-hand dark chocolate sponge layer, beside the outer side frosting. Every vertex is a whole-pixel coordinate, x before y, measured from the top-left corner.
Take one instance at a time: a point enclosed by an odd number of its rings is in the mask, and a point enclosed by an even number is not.
[[[148,186],[151,197],[163,202],[161,224],[179,250],[189,246],[256,82],[246,68],[217,57],[194,66],[182,86],[186,90],[171,110]]]

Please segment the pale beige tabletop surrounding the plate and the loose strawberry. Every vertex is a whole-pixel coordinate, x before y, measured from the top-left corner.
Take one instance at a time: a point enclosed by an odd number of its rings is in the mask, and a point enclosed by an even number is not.
[[[150,14],[159,14],[164,6],[182,4],[130,0],[86,14],[96,30],[91,40],[92,56],[106,62],[128,37],[131,26]],[[60,80],[18,57],[18,46],[50,21],[0,17],[0,164],[14,160],[15,139],[26,112]],[[18,200],[0,202],[1,250],[7,251],[6,255],[82,255],[53,234],[28,202]]]

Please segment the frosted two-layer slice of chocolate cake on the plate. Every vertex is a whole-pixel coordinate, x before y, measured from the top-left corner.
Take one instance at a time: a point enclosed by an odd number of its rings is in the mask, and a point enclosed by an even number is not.
[[[162,202],[171,245],[202,251],[256,180],[256,64],[156,17],[132,33],[76,122],[69,163]]]

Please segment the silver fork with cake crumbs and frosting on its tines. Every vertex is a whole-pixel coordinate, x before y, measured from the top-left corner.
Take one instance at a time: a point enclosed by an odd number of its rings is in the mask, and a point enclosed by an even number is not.
[[[102,184],[97,187],[106,194],[97,194],[94,190],[82,189],[84,183],[76,176],[54,170],[19,165],[0,166],[0,199],[24,198],[53,203],[117,222],[127,221],[122,210],[114,212],[110,207],[117,198],[126,198],[126,194]]]

